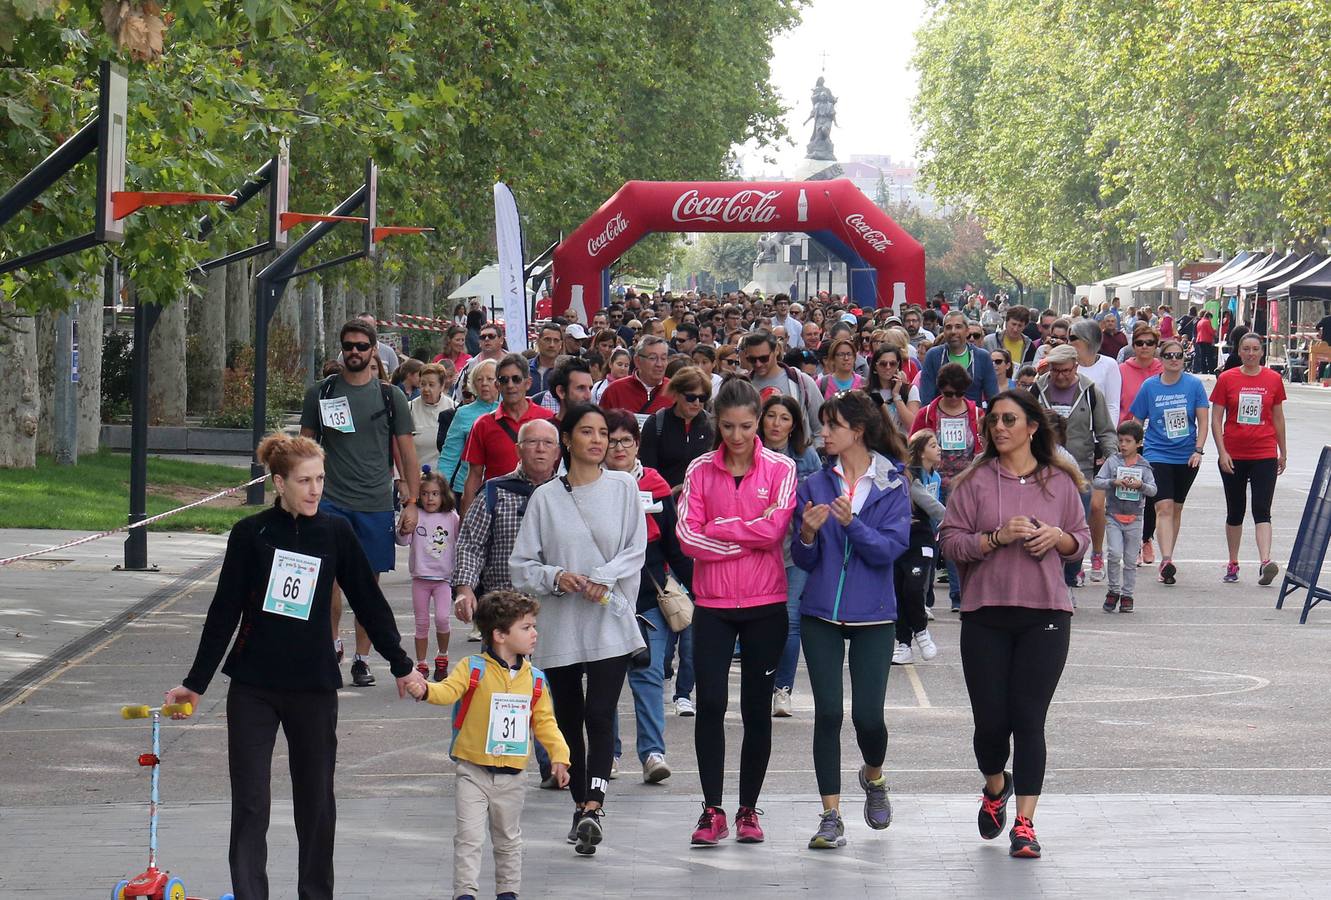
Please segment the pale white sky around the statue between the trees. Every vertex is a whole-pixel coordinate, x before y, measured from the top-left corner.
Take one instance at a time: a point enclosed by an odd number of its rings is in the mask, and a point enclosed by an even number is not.
[[[913,160],[916,76],[910,55],[925,8],[925,0],[812,0],[800,25],[772,41],[772,83],[791,108],[785,124],[795,146],[761,153],[741,148],[744,176],[789,173],[804,158],[813,124],[803,122],[819,75],[837,97],[832,129],[837,158],[886,153],[893,160]],[[765,157],[775,157],[776,165]]]

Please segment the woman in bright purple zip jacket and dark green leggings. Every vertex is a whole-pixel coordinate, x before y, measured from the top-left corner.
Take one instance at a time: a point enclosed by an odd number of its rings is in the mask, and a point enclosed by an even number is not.
[[[833,459],[796,491],[791,558],[809,572],[800,602],[800,642],[813,688],[813,771],[823,813],[809,849],[845,845],[841,821],[841,672],[851,647],[851,722],[864,766],[864,820],[892,823],[882,760],[882,699],[896,644],[893,567],[910,543],[905,446],[861,390],[833,394],[819,411]]]

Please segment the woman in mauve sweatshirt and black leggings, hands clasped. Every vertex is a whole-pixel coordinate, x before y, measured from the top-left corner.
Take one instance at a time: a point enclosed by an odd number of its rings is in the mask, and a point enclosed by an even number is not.
[[[1032,819],[1045,780],[1045,716],[1073,618],[1062,564],[1090,542],[1082,474],[1055,446],[1034,397],[996,397],[985,451],[953,479],[940,535],[961,568],[961,666],[985,776],[980,836],[1002,833],[1016,792],[1009,852],[1018,857],[1040,856]],[[1009,739],[1012,774],[1004,771]]]

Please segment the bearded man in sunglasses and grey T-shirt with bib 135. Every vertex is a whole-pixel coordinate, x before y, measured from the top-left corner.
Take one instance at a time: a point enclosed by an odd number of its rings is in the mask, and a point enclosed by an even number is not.
[[[393,571],[397,559],[393,539],[393,446],[397,447],[399,478],[406,483],[401,527],[407,531],[417,525],[421,467],[411,439],[407,398],[370,371],[377,338],[374,326],[359,320],[342,326],[343,370],[305,391],[301,434],[323,445],[325,481],[319,511],[350,522],[370,566],[375,572],[387,572]],[[342,592],[334,586],[333,643],[339,662],[341,626]],[[370,636],[357,622],[355,660],[351,663],[351,683],[357,687],[374,684],[366,660],[369,652]]]

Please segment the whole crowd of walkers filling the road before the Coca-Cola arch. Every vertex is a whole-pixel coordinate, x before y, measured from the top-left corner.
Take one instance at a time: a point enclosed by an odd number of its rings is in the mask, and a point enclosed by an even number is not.
[[[1209,393],[1195,373],[1218,367],[1226,337],[1235,365]],[[1183,507],[1209,449],[1227,505],[1222,579],[1239,580],[1248,497],[1258,583],[1276,575],[1283,385],[1260,336],[1217,334],[1209,313],[628,292],[506,350],[524,338],[459,309],[441,351],[399,362],[371,316],[351,320],[305,398],[301,437],[261,447],[277,505],[232,533],[198,656],[168,695],[197,703],[240,628],[224,667],[233,782],[266,784],[278,724],[322,742],[317,766],[293,768],[302,897],[331,896],[342,591],[353,684],[374,684],[373,644],[402,694],[454,708],[453,896],[479,891],[488,820],[506,900],[520,884],[514,776],[530,755],[542,787],[568,788],[574,849],[592,856],[607,839],[626,682],[644,782],[671,778],[667,711],[693,718],[692,845],[717,845],[732,825],[759,843],[773,719],[796,715],[803,656],[823,803],[808,845],[835,849],[848,660],[862,816],[886,828],[888,678],[940,654],[940,582],[961,622],[980,835],[1004,832],[1016,796],[1010,853],[1040,856],[1045,718],[1075,588],[1107,579],[1102,608],[1127,614],[1139,566],[1177,583]],[[395,545],[409,547],[414,655],[378,587]],[[450,666],[454,618],[479,646]],[[301,691],[322,700],[297,703]],[[233,880],[265,897],[266,788],[233,795]]]

